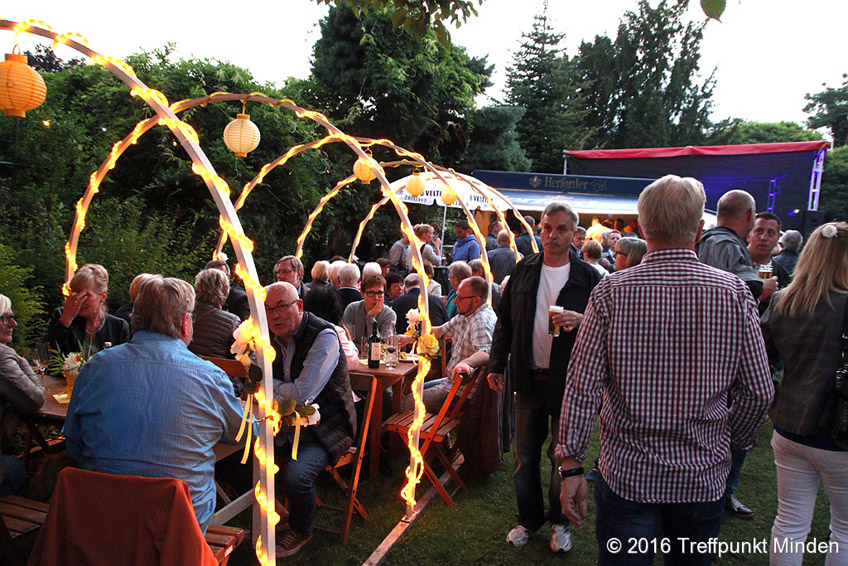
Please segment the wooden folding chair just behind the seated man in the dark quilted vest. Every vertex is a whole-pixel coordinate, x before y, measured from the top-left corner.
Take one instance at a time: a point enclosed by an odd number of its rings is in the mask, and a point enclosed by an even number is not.
[[[316,529],[338,534],[342,539],[342,544],[347,542],[348,535],[350,534],[350,523],[353,518],[354,511],[356,511],[356,513],[364,520],[368,520],[368,513],[357,499],[356,493],[359,489],[359,474],[362,470],[362,461],[365,459],[365,445],[368,441],[368,430],[371,425],[371,415],[374,410],[374,404],[381,401],[379,398],[380,396],[377,394],[377,380],[374,379],[373,376],[351,374],[350,386],[354,391],[358,391],[361,395],[364,395],[363,401],[365,401],[365,410],[362,413],[361,422],[358,424],[354,445],[351,446],[341,458],[339,458],[339,461],[336,462],[335,465],[327,466],[326,468],[326,471],[332,476],[333,481],[339,486],[339,488],[341,488],[342,492],[344,492],[347,503],[345,508],[341,508],[328,505],[321,501],[320,498],[318,500],[318,507],[344,513],[342,529],[334,530],[319,525],[315,526]],[[372,448],[372,450],[377,449],[379,449],[379,446]],[[345,481],[339,474],[339,470],[347,465],[351,465],[352,469],[350,480]]]

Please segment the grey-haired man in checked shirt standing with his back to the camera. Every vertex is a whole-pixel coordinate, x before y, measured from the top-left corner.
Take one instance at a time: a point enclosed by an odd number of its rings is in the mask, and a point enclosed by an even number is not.
[[[579,528],[588,499],[581,462],[601,406],[599,564],[652,564],[654,552],[667,564],[709,564],[697,542],[718,536],[730,448],[753,448],[771,404],[748,287],[694,252],[704,202],[692,178],[645,188],[648,254],[598,284],[571,356],[556,447],[562,508]]]

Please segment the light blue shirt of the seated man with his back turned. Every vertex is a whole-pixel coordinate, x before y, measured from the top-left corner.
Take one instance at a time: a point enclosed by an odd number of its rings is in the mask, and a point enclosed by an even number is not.
[[[215,511],[213,447],[235,442],[241,416],[223,370],[178,338],[139,331],[85,364],[62,432],[86,470],[185,481],[205,533]]]

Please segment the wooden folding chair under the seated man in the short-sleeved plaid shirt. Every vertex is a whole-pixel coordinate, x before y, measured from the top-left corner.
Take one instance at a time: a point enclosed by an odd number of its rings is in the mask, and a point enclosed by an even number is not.
[[[465,404],[468,396],[474,388],[474,383],[478,379],[480,371],[475,371],[473,376],[456,379],[451,386],[445,402],[437,415],[427,414],[424,417],[424,424],[419,432],[419,446],[421,455],[424,458],[424,475],[433,484],[433,487],[442,497],[445,504],[453,505],[453,495],[460,489],[468,491],[465,484],[459,478],[456,468],[453,467],[452,459],[449,458],[443,447],[443,442],[449,437],[450,433],[459,425],[462,415],[465,413]],[[454,400],[456,402],[454,403]],[[453,404],[453,407],[451,407]],[[414,420],[413,411],[407,411],[390,417],[384,424],[387,430],[393,431],[406,439],[409,428]],[[432,450],[432,452],[431,452]],[[433,471],[432,461],[441,462],[447,471],[449,479],[454,481],[456,488],[453,492],[448,493],[445,486],[439,481],[439,477]]]

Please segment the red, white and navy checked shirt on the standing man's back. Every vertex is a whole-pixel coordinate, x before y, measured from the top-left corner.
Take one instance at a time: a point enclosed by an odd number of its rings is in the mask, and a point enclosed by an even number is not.
[[[655,251],[592,293],[568,367],[556,455],[586,458],[600,405],[600,471],[616,494],[640,503],[716,501],[731,443],[754,447],[772,395],[748,287],[692,251]]]

